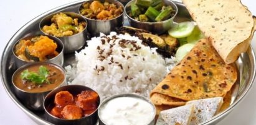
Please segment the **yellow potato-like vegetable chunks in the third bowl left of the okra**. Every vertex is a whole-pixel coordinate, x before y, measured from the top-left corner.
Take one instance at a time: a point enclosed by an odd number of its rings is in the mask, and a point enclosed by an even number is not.
[[[42,31],[55,37],[68,37],[82,32],[86,22],[79,22],[78,18],[72,18],[63,12],[53,15],[50,25],[44,25]]]

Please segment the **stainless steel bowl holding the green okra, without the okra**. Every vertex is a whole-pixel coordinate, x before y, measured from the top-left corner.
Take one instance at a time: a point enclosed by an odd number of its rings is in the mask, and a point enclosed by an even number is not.
[[[141,28],[144,30],[148,30],[152,33],[162,34],[169,30],[173,25],[173,19],[178,14],[178,7],[176,4],[171,0],[163,0],[166,5],[170,5],[173,7],[173,9],[176,11],[173,17],[171,17],[168,20],[164,20],[161,22],[140,22],[138,20],[133,19],[129,16],[130,10],[131,10],[131,4],[135,2],[135,0],[132,0],[128,2],[125,6],[125,15],[128,17],[128,21],[131,25],[131,27]]]

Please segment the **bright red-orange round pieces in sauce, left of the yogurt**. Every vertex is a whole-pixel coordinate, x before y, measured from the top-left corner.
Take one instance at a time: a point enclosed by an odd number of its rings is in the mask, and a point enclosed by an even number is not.
[[[97,110],[98,98],[98,94],[92,90],[83,90],[77,95],[60,91],[55,95],[55,106],[50,114],[61,119],[80,119]]]

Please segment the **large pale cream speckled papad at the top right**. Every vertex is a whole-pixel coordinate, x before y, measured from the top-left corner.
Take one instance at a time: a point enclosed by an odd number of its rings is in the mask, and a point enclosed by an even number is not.
[[[251,12],[239,0],[183,0],[194,19],[225,63],[234,63],[247,51],[254,35]]]

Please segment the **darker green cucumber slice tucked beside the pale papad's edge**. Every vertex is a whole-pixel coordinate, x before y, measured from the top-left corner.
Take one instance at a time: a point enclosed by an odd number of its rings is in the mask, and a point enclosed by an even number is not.
[[[204,34],[202,34],[199,27],[196,26],[191,35],[187,37],[187,43],[192,43],[195,45],[201,38],[204,38]]]

